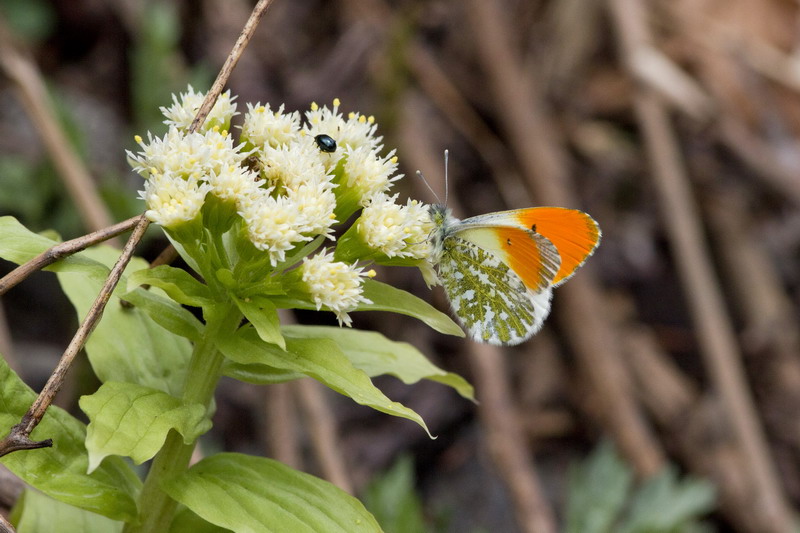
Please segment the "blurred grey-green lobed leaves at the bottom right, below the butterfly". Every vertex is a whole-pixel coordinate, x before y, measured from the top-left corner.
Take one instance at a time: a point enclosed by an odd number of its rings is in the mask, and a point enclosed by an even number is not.
[[[707,481],[678,479],[668,466],[635,487],[633,473],[606,442],[570,472],[568,533],[677,533],[705,531],[698,520],[714,509]]]

